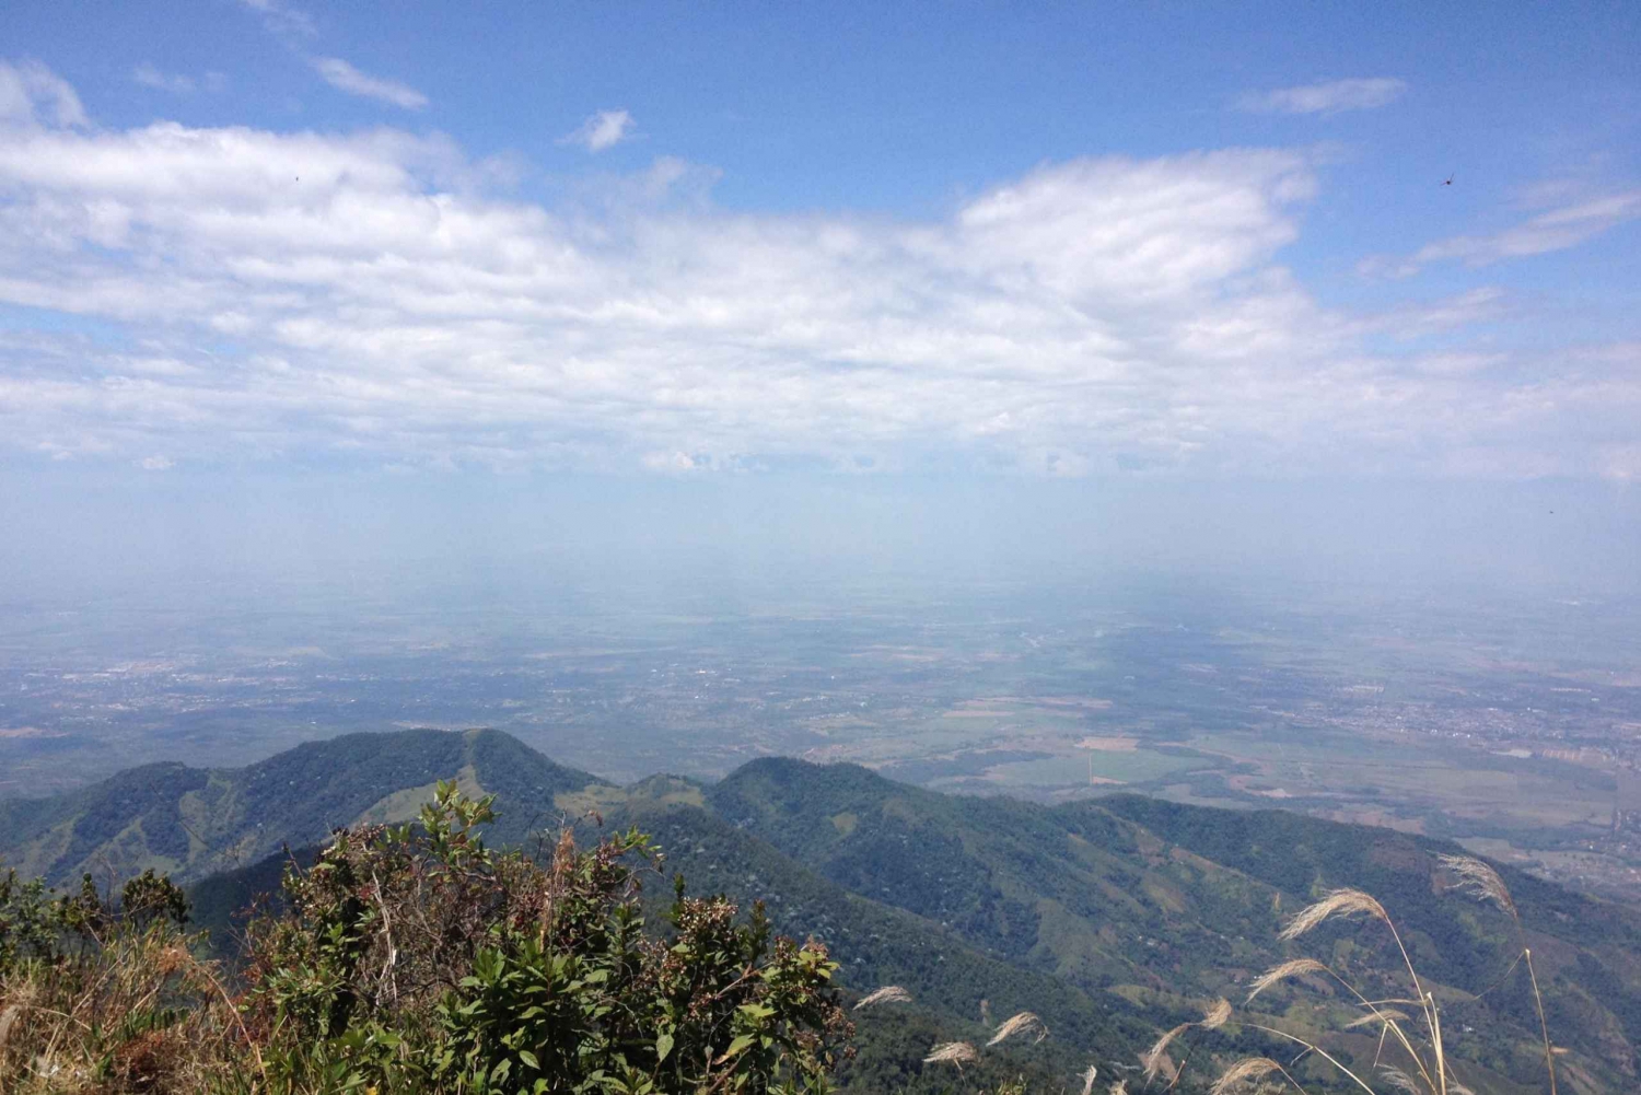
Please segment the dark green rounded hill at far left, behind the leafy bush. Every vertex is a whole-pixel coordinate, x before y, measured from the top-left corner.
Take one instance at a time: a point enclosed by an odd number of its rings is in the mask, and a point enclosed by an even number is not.
[[[410,819],[438,780],[546,809],[599,783],[497,731],[348,734],[245,768],[144,765],[71,795],[0,803],[0,862],[57,885],[149,867],[190,880],[338,826]],[[515,809],[504,824],[499,836],[522,841],[532,818]]]

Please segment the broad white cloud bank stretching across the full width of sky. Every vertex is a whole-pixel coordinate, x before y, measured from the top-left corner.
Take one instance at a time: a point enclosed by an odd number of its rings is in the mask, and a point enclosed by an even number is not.
[[[0,332],[0,445],[673,474],[1633,465],[1633,348],[1544,368],[1418,340],[1490,296],[1321,307],[1280,263],[1316,190],[1300,153],[1045,164],[929,220],[651,186],[688,174],[548,208],[394,130],[3,128],[0,302],[61,318]]]

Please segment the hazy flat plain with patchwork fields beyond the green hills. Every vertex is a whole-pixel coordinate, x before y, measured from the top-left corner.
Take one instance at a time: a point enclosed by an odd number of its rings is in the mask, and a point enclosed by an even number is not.
[[[1050,803],[1283,806],[1641,900],[1631,604],[1162,578],[197,593],[0,606],[0,796],[492,726],[617,781],[793,755]]]

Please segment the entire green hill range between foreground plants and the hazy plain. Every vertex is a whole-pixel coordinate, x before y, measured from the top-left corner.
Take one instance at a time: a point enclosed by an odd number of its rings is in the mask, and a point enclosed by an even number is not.
[[[983,1039],[983,1000],[993,1016],[1044,1016],[1054,1031],[1047,1049],[1009,1067],[1047,1069],[1042,1082],[1058,1090],[1075,1087],[1072,1075],[1091,1054],[1114,1075],[1157,1029],[1221,995],[1241,1005],[1249,980],[1287,957],[1314,954],[1369,990],[1405,995],[1395,952],[1374,924],[1277,941],[1291,911],[1341,885],[1372,891],[1398,918],[1426,987],[1442,1000],[1465,1084],[1479,1095],[1541,1090],[1543,1047],[1528,985],[1511,969],[1513,928],[1444,887],[1438,855],[1459,849],[1283,811],[1137,796],[1050,808],[784,758],[752,762],[715,785],[651,777],[620,788],[505,734],[410,731],[304,745],[231,772],[153,765],[57,799],[0,804],[0,855],[56,880],[94,862],[202,878],[231,849],[246,867],[194,890],[200,918],[222,924],[277,883],[281,860],[259,857],[317,844],[336,824],[410,818],[437,778],[497,795],[494,842],[520,844],[563,819],[637,824],[691,891],[763,898],[781,931],[825,939],[847,988],[907,987],[916,1005],[862,1024],[873,1051],[852,1065],[857,1090],[922,1090],[924,1079],[894,1072],[894,1062],[930,1031]],[[1567,1049],[1562,1090],[1636,1090],[1641,914],[1500,872],[1534,952],[1552,1036]],[[651,896],[670,898],[666,882],[656,880]],[[1319,983],[1273,988],[1255,1011],[1318,1036],[1342,1015]],[[1247,1028],[1193,1038],[1216,1054],[1278,1049]],[[1372,1031],[1329,1038],[1374,1056]],[[906,1044],[886,1047],[894,1039]]]

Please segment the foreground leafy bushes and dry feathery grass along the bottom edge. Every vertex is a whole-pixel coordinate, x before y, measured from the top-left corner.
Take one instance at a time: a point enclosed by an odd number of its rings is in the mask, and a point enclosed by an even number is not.
[[[640,875],[661,865],[635,829],[579,850],[566,831],[538,865],[486,847],[489,796],[438,785],[418,824],[341,831],[309,870],[290,864],[284,901],[249,923],[230,983],[185,932],[187,903],[144,873],[117,901],[87,880],[53,898],[41,883],[0,880],[0,1090],[79,1092],[824,1092],[853,1054],[853,1023],[832,987],[837,964],[816,942],[775,937],[760,906],[691,900],[676,880],[660,931],[647,928]],[[1447,857],[1452,885],[1515,919],[1503,880],[1480,860]],[[1377,1039],[1365,1054],[1329,1049],[1311,1031],[1236,1021],[1226,1000],[1168,1029],[1129,1077],[1103,1090],[1364,1090],[1462,1095],[1441,1003],[1421,982],[1388,911],[1336,890],[1300,911],[1283,937],[1367,916],[1395,941],[1408,993],[1369,998],[1331,965],[1290,959],[1247,996],[1283,982],[1331,978],[1354,998],[1347,1023]],[[1518,962],[1533,977],[1518,931]],[[1538,1001],[1536,978],[1534,1000]],[[855,1011],[912,1003],[881,987]],[[870,1013],[870,1011],[868,1011]],[[1554,1047],[1543,1033],[1547,1090]],[[991,1054],[1037,1044],[1044,1021],[1021,1011],[990,1041],[924,1033],[919,1064],[940,1088],[1024,1092]],[[1208,1064],[1175,1064],[1191,1031],[1219,1042]],[[1246,1052],[1254,1047],[1255,1052]],[[1336,1056],[1339,1054],[1339,1056]],[[1186,1067],[1191,1064],[1191,1067]],[[942,1082],[940,1074],[948,1074]],[[1047,1082],[1045,1082],[1047,1080]],[[1067,1087],[1091,1095],[1096,1064]],[[904,1087],[904,1085],[903,1085]],[[921,1084],[919,1087],[927,1087]]]

